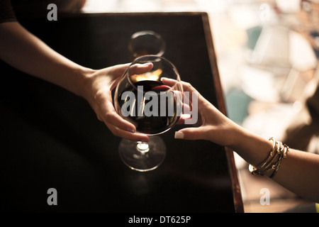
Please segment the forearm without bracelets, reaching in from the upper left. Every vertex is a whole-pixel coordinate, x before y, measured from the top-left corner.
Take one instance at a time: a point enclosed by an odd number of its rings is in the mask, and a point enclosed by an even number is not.
[[[87,74],[93,72],[48,47],[18,22],[0,24],[0,58],[16,69],[80,94]]]

